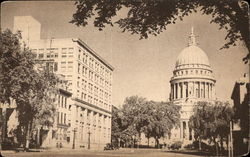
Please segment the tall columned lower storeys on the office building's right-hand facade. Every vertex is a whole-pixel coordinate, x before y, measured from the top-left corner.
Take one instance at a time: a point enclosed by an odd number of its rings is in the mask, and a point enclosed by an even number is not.
[[[89,149],[102,149],[111,140],[111,117],[77,106],[76,142]]]

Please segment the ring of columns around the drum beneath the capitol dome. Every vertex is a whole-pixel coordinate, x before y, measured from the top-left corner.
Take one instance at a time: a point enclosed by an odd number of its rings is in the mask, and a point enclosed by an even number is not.
[[[214,83],[205,81],[186,81],[171,83],[171,100],[181,98],[215,98]]]

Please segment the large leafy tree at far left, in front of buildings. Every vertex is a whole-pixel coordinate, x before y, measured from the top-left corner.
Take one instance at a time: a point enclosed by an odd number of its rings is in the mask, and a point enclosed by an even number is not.
[[[34,54],[21,46],[21,34],[5,30],[0,34],[0,102],[16,102],[18,134],[29,148],[32,127],[37,124],[50,126],[53,123],[57,77],[49,71],[35,70]],[[26,142],[26,143],[25,143]]]

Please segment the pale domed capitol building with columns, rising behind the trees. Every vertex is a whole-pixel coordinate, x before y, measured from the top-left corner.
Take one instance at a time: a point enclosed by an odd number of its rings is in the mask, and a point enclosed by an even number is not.
[[[188,46],[177,57],[170,80],[170,101],[181,107],[180,125],[171,131],[171,140],[188,143],[194,132],[188,127],[193,107],[198,101],[215,100],[215,78],[206,53],[197,46],[192,28]]]

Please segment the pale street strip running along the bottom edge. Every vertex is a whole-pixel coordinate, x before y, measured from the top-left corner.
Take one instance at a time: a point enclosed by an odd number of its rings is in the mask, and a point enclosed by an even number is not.
[[[112,151],[53,150],[44,152],[4,153],[4,157],[197,157],[197,152],[171,152],[157,149],[120,149]]]

